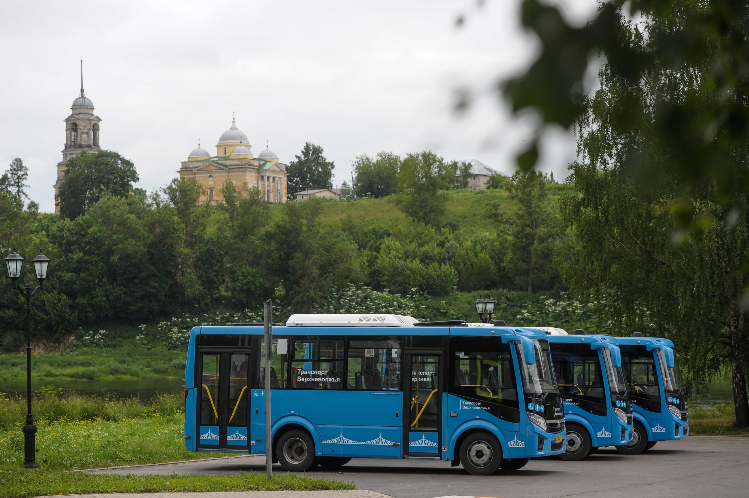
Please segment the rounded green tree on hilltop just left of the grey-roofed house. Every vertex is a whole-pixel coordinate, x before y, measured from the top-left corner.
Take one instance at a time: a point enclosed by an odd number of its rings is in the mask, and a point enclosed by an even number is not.
[[[446,189],[452,178],[452,170],[437,154],[428,150],[408,154],[401,165],[395,202],[410,218],[438,227],[445,218]]]

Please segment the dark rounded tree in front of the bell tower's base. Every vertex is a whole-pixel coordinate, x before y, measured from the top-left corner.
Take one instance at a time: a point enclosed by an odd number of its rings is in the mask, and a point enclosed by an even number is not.
[[[127,196],[138,179],[133,163],[118,153],[110,150],[82,153],[67,162],[65,180],[58,191],[60,215],[71,219],[85,215],[104,192],[115,197]]]

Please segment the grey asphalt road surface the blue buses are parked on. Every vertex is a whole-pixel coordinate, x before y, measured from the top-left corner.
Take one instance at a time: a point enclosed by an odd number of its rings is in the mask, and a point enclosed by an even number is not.
[[[318,467],[319,469],[319,467]],[[273,470],[284,472],[279,465]],[[174,464],[91,470],[117,474],[237,475],[265,471],[264,456],[220,458]],[[313,470],[310,476],[354,482],[360,489],[395,498],[446,495],[546,497],[748,497],[749,437],[691,436],[660,442],[642,455],[599,449],[584,461],[535,458],[515,472],[470,476],[449,462],[354,458],[340,472]]]

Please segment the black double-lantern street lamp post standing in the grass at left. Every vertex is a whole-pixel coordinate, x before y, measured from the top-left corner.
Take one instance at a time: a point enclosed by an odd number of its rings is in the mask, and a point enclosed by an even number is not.
[[[25,289],[21,289],[21,286],[18,284],[18,279],[21,277],[21,270],[23,268],[23,261],[23,257],[13,250],[5,258],[5,266],[7,268],[7,276],[13,282],[13,289],[18,289],[18,292],[26,298],[26,425],[22,428],[23,467],[35,469],[38,465],[36,456],[37,426],[34,425],[34,416],[31,415],[31,298],[40,289],[44,288],[44,279],[46,278],[47,268],[49,268],[49,258],[44,256],[40,250],[39,255],[31,259],[31,262],[34,263],[37,280],[39,280],[39,285],[33,290],[30,283],[25,285]]]

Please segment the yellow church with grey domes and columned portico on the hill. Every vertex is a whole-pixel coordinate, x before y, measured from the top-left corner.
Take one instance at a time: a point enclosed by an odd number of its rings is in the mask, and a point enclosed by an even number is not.
[[[216,154],[211,155],[200,147],[192,150],[187,161],[181,163],[180,179],[194,178],[205,188],[199,203],[222,203],[221,188],[232,182],[241,193],[257,188],[267,203],[286,202],[286,165],[266,145],[254,156],[247,135],[237,129],[232,117],[231,128],[222,133],[216,144]]]

